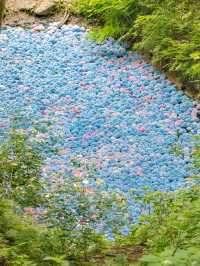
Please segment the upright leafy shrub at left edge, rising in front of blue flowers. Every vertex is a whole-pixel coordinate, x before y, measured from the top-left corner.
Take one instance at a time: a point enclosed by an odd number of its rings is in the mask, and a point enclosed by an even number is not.
[[[43,187],[41,160],[23,132],[11,132],[9,140],[0,147],[1,196],[12,198],[23,206],[39,205]]]

